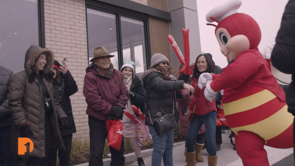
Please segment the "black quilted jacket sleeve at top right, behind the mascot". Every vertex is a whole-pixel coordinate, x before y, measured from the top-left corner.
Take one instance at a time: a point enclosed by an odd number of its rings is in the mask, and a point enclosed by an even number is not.
[[[295,0],[289,0],[283,14],[271,62],[279,71],[295,74]]]

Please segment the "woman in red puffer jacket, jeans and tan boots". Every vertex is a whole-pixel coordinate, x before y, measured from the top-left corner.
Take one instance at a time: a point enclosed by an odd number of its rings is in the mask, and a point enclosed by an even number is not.
[[[195,159],[195,148],[199,151],[203,148],[202,145],[196,145],[195,140],[201,126],[204,124],[206,127],[206,149],[208,152],[208,165],[217,164],[217,148],[215,141],[216,132],[216,104],[215,100],[210,102],[204,96],[204,88],[200,89],[198,86],[199,75],[202,73],[213,73],[214,65],[208,54],[200,54],[196,58],[196,64],[194,66],[194,74],[189,82],[195,88],[194,97],[189,105],[189,124],[188,133],[186,136],[187,145],[187,165],[191,166]],[[191,114],[190,114],[191,113]]]

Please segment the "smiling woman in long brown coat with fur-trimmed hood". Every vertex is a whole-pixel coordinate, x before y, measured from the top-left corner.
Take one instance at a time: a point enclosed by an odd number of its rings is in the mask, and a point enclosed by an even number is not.
[[[9,150],[15,156],[30,157],[28,165],[45,165],[50,146],[65,149],[58,121],[66,126],[67,116],[51,83],[53,62],[52,51],[31,45],[25,56],[25,70],[14,74],[10,84],[9,108],[13,122]],[[19,137],[33,141],[32,152],[18,154]]]

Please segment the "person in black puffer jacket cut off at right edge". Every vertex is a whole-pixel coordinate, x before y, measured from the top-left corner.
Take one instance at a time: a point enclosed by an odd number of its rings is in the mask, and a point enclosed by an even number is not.
[[[295,0],[289,0],[281,27],[276,37],[276,45],[271,53],[271,62],[279,71],[292,74],[292,82],[286,90],[288,112],[295,115]],[[295,119],[294,119],[295,122]],[[295,124],[295,123],[294,123]],[[293,143],[295,147],[295,126],[293,126]],[[295,160],[295,151],[294,151]]]

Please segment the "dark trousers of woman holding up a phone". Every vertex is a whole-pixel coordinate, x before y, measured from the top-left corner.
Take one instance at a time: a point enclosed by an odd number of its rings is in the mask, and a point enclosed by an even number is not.
[[[62,136],[65,150],[50,148],[48,154],[48,166],[56,166],[56,155],[58,151],[60,166],[70,166],[70,154],[72,150],[73,134]]]

